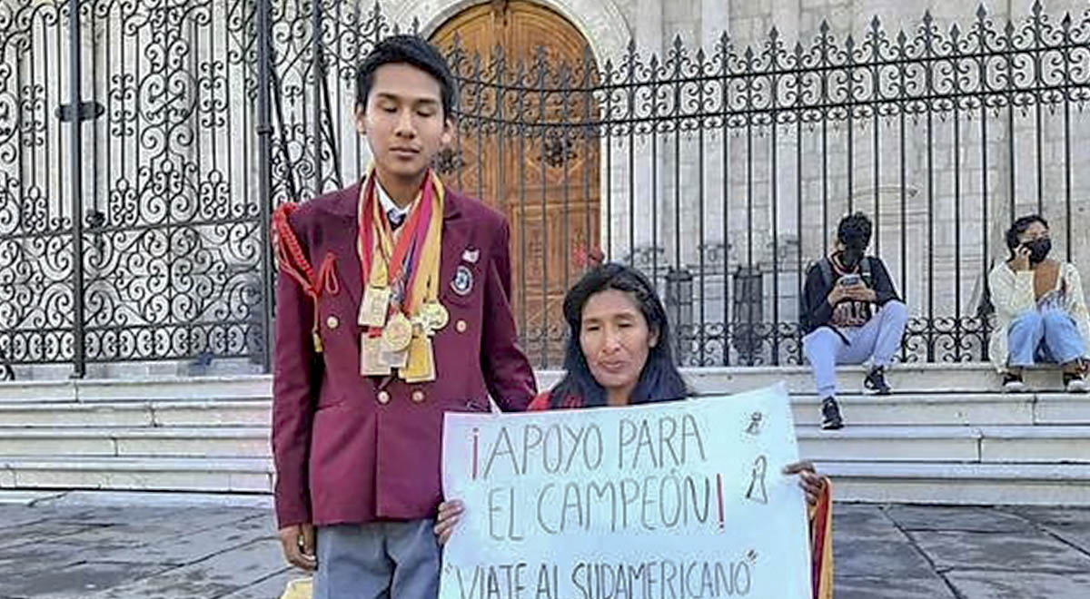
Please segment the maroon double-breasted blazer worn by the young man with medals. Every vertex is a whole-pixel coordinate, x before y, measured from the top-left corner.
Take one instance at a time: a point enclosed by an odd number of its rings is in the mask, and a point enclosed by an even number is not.
[[[291,277],[277,283],[272,454],[280,527],[434,516],[440,501],[445,412],[486,412],[488,396],[523,411],[533,370],[511,315],[507,220],[448,191],[443,218],[439,300],[450,321],[433,338],[437,380],[407,384],[360,375],[356,323],[363,294],[356,254],[360,185],[301,205],[289,223],[314,269],[332,254],[338,293],[314,303]],[[459,267],[464,277],[457,293]],[[324,352],[316,354],[317,314]]]

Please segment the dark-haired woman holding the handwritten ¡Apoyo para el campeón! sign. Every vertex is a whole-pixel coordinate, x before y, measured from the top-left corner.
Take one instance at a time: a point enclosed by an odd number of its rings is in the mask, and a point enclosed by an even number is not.
[[[564,379],[538,395],[531,411],[626,406],[682,400],[689,395],[674,363],[666,309],[651,282],[617,264],[601,265],[568,292],[564,314],[570,327]],[[811,505],[814,597],[832,597],[829,486],[813,465],[784,469],[798,475]],[[450,538],[463,514],[461,501],[439,505],[435,534]]]

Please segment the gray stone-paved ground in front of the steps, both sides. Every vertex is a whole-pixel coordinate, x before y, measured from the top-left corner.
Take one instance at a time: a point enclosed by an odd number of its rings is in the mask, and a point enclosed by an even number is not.
[[[837,599],[1086,599],[1090,510],[838,505]],[[266,510],[0,504],[0,598],[275,599]]]

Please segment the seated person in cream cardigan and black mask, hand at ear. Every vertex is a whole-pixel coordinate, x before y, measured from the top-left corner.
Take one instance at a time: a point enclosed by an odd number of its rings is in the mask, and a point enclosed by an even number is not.
[[[1006,234],[1010,257],[988,277],[995,306],[990,354],[1003,390],[1024,391],[1022,369],[1059,364],[1068,392],[1085,393],[1090,317],[1078,269],[1049,258],[1049,223],[1039,215],[1016,220]]]

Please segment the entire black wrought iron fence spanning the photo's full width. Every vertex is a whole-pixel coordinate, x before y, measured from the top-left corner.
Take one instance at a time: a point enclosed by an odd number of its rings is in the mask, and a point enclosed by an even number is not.
[[[267,215],[363,172],[354,71],[393,29],[347,0],[0,4],[0,364],[267,363]],[[656,282],[703,366],[801,362],[804,269],[847,211],[912,309],[907,360],[986,358],[1015,215],[1090,258],[1090,14],[576,63],[446,50],[437,167],[511,219],[537,366],[596,246]]]

